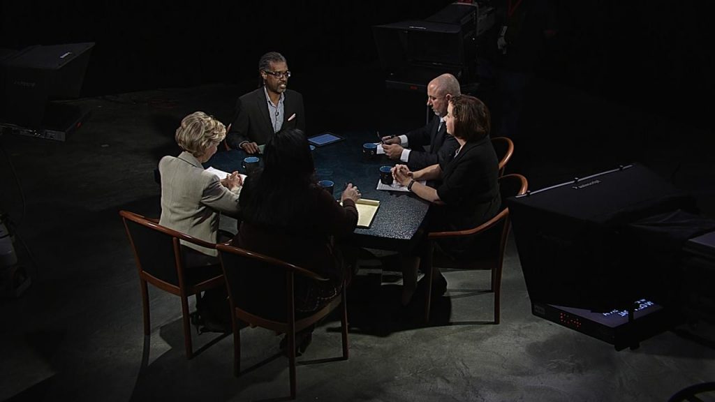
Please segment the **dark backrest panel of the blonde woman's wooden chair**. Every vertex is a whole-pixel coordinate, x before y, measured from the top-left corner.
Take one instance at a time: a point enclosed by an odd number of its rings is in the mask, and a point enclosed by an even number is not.
[[[132,214],[133,215],[133,214]],[[159,280],[179,286],[176,256],[179,242],[172,235],[157,230],[153,222],[139,215],[124,217],[124,227],[141,270]]]

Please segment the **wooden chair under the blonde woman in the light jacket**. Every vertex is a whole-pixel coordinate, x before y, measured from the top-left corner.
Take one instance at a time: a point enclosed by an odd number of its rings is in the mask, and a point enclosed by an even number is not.
[[[134,251],[134,258],[137,260],[144,308],[144,335],[149,335],[151,332],[147,287],[147,283],[151,283],[181,298],[186,357],[193,358],[188,298],[204,290],[224,286],[225,281],[218,264],[214,267],[187,269],[184,266],[184,255],[179,240],[208,248],[215,248],[216,245],[159,225],[158,220],[134,212],[119,211],[119,215],[122,216],[129,243]]]

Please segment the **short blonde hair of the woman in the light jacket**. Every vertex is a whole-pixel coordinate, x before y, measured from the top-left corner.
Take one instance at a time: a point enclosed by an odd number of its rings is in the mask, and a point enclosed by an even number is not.
[[[204,112],[193,112],[184,117],[174,136],[179,147],[194,157],[204,155],[212,143],[219,143],[225,137],[224,124]]]

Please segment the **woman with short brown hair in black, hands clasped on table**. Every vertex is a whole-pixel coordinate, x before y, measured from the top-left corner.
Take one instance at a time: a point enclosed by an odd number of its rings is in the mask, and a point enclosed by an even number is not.
[[[406,165],[393,167],[395,180],[433,203],[428,214],[428,231],[470,229],[490,220],[501,207],[498,159],[489,138],[489,109],[475,97],[453,97],[447,107],[445,124],[447,132],[457,139],[459,148],[444,170],[440,165],[417,172],[410,172]],[[440,180],[440,185],[429,187],[420,180]],[[460,259],[475,250],[470,240],[440,241],[437,246],[450,257]],[[421,241],[420,253],[413,253],[403,263],[403,305],[410,303],[417,289],[420,258],[429,257],[424,251],[429,247],[424,245]],[[425,269],[433,269],[433,294],[443,295],[447,280],[437,268]]]

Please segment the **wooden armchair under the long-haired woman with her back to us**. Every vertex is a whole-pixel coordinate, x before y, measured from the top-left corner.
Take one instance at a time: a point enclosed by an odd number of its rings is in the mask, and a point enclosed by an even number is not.
[[[341,306],[342,358],[347,360],[347,308],[345,283],[340,295],[325,307],[309,314],[295,312],[295,282],[327,281],[304,268],[285,263],[277,258],[253,253],[231,245],[217,245],[224,270],[231,304],[234,375],[240,375],[241,336],[239,320],[249,325],[275,330],[287,336],[290,370],[290,397],[295,399],[295,333],[330,314]]]

